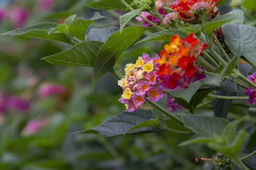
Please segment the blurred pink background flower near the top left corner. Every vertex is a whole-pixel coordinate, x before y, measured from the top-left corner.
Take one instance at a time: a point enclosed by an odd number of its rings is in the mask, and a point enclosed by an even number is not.
[[[29,11],[24,7],[13,7],[8,11],[8,17],[14,26],[22,27],[29,17]]]

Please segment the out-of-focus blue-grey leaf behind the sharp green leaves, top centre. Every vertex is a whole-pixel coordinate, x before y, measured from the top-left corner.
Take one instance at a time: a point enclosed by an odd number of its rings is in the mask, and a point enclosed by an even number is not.
[[[85,40],[106,42],[108,37],[118,30],[119,28],[116,26],[110,26],[108,28],[91,28],[89,33],[85,35]]]

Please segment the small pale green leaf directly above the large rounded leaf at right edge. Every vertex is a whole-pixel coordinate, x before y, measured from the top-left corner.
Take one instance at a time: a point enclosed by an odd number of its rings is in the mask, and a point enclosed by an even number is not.
[[[244,12],[240,9],[235,9],[219,17],[220,21],[229,19],[230,21],[225,24],[243,24],[245,19]]]

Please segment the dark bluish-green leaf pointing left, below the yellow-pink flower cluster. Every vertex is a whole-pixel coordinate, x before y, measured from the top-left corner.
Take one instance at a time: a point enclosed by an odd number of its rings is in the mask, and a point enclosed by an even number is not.
[[[153,113],[150,110],[135,110],[133,112],[124,111],[117,116],[114,116],[100,125],[93,127],[89,130],[83,130],[74,132],[77,133],[100,133],[105,136],[117,136],[123,135],[130,128],[135,125],[146,121],[154,119]],[[134,129],[129,131],[127,134],[140,134],[140,133],[148,133],[148,132],[162,132],[163,129],[159,129],[157,127],[141,127],[138,129]]]

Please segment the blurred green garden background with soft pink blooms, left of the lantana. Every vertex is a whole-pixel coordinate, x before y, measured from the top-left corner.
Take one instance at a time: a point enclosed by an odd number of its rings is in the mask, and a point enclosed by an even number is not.
[[[107,18],[91,24],[87,33],[93,27],[119,26],[123,11],[83,6],[91,1],[0,0],[0,34],[39,22],[62,24],[73,14],[89,19],[95,11]],[[122,62],[136,61],[142,51],[155,54],[161,46],[146,42],[129,48]],[[177,146],[188,136],[70,135],[95,127],[125,107],[118,102],[122,89],[114,76],[103,76],[92,90],[92,68],[40,60],[69,48],[63,42],[0,36],[0,170],[211,169],[210,162],[195,163],[194,157],[210,158],[214,151],[201,144]],[[211,110],[203,111],[212,114]]]

